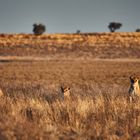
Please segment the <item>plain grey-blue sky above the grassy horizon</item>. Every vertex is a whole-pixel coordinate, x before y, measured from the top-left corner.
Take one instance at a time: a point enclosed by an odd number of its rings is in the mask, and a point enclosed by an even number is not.
[[[47,33],[122,32],[140,28],[140,0],[0,0],[0,33],[32,33],[34,23]]]

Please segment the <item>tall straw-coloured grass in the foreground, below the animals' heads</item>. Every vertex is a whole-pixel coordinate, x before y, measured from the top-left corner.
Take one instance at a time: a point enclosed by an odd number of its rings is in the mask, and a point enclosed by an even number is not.
[[[124,91],[92,86],[62,101],[41,87],[38,96],[7,90],[0,98],[0,139],[138,139],[140,101],[127,102]]]

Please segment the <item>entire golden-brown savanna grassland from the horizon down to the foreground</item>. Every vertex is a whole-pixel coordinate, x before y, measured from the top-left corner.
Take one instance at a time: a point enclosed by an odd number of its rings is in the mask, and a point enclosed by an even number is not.
[[[1,35],[0,139],[140,139],[140,101],[127,100],[129,76],[140,74],[139,34],[116,34],[111,44],[113,35],[76,43],[73,35]],[[70,99],[61,100],[61,85]]]

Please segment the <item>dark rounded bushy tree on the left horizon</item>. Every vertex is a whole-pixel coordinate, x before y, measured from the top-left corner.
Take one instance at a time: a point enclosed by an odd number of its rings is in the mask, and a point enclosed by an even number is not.
[[[46,31],[46,27],[43,24],[33,24],[33,32],[35,35],[41,35]]]

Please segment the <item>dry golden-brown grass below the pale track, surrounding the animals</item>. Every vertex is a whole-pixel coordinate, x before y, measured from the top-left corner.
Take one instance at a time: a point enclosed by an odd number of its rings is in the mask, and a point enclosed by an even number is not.
[[[140,62],[0,63],[0,139],[139,139],[140,101],[127,102]],[[71,98],[59,98],[61,84]]]

